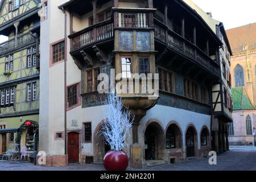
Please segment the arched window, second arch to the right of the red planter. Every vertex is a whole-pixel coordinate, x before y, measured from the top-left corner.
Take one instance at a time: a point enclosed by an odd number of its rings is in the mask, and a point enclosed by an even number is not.
[[[182,134],[179,127],[172,124],[166,131],[166,149],[182,148]]]

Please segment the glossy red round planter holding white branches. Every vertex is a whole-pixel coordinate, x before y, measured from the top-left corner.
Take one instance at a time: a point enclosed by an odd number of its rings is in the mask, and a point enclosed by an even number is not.
[[[108,171],[125,171],[128,163],[128,156],[123,151],[109,151],[104,156],[104,167]]]

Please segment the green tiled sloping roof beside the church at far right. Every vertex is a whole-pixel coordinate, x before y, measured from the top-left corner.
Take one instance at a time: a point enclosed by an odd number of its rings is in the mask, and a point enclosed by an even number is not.
[[[246,93],[244,87],[232,89],[233,110],[254,110],[256,109]]]

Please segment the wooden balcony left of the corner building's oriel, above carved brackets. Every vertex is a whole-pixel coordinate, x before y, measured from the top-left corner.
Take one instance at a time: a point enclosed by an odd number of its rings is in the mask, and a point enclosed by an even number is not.
[[[105,22],[94,24],[75,34],[69,35],[71,39],[71,52],[113,38],[113,30],[113,21],[106,20]]]

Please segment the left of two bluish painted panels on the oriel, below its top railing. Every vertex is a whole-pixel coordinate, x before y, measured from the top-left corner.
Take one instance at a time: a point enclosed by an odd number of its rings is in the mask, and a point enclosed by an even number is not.
[[[133,51],[134,39],[132,31],[119,31],[119,50]]]

